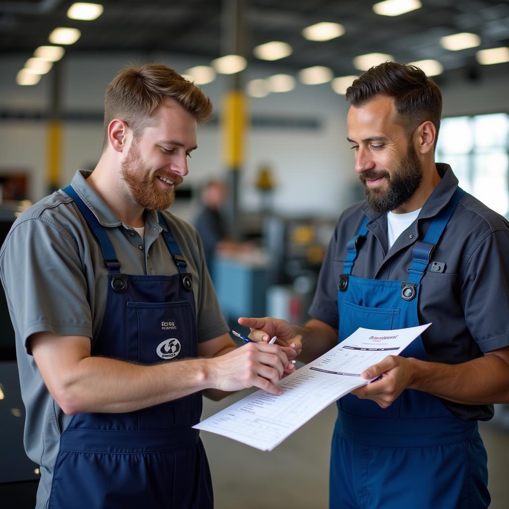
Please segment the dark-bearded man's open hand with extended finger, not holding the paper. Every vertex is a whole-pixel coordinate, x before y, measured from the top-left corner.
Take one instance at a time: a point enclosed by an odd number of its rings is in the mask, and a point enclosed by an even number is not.
[[[271,337],[276,336],[276,344],[281,346],[281,350],[290,361],[295,359],[302,351],[302,335],[297,333],[294,326],[286,320],[271,317],[241,317],[238,322],[240,325],[251,329],[249,337],[253,341],[268,343]]]

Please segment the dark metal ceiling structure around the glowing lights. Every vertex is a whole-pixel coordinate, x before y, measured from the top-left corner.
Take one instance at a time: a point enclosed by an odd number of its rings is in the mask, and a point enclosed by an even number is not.
[[[104,6],[95,21],[75,21],[64,0],[0,0],[0,48],[3,55],[32,56],[48,44],[56,26],[76,27],[81,38],[66,55],[107,52],[168,52],[203,58],[203,64],[221,56],[224,2],[220,0],[92,0]],[[421,0],[420,9],[401,16],[373,12],[374,0],[244,0],[246,58],[260,62],[252,48],[268,41],[284,41],[293,48],[285,59],[264,62],[298,71],[309,66],[330,67],[335,76],[358,74],[354,56],[384,52],[399,62],[436,59],[447,73],[464,69],[466,76],[480,71],[478,49],[509,45],[509,2],[502,0]],[[345,26],[342,37],[312,42],[301,35],[304,27],[332,21]],[[449,51],[440,37],[472,32],[481,39],[477,48]],[[223,46],[224,47],[224,46]],[[64,57],[65,58],[65,57]],[[509,64],[499,64],[509,74]]]

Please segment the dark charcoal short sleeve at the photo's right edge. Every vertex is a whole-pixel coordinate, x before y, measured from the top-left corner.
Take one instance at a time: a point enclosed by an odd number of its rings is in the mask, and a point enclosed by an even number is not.
[[[488,234],[469,253],[462,305],[467,327],[483,352],[509,345],[509,232]]]

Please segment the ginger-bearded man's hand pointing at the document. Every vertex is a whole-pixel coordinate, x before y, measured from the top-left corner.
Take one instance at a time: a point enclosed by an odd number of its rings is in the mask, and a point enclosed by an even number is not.
[[[212,386],[222,391],[259,387],[278,395],[281,391],[275,384],[295,369],[279,346],[263,342],[246,343],[208,362]]]

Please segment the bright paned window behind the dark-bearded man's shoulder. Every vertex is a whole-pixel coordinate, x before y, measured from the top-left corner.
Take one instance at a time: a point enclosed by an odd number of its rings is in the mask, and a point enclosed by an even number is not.
[[[451,165],[465,191],[509,217],[509,115],[443,119],[437,161]]]

